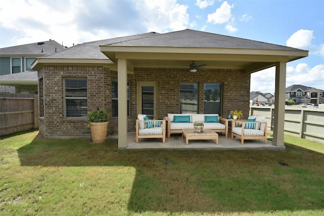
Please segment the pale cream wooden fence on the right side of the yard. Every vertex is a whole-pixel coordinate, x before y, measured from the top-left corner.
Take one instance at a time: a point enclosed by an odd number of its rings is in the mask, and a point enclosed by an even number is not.
[[[250,106],[250,115],[265,116],[273,130],[274,106]],[[324,143],[324,108],[287,106],[285,109],[285,133]]]

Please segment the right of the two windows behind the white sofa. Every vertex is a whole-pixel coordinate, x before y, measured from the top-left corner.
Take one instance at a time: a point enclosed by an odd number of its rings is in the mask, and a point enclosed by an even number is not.
[[[222,85],[220,83],[204,84],[204,113],[221,114]]]

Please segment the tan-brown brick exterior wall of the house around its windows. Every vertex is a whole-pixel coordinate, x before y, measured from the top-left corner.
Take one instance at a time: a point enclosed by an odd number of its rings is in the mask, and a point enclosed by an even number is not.
[[[111,112],[111,80],[117,72],[103,66],[47,65],[38,70],[38,79],[43,78],[44,89],[39,87],[39,113],[42,113],[44,94],[44,116],[39,117],[39,132],[46,138],[90,137],[86,118],[64,117],[64,78],[87,77],[88,111],[104,108]],[[181,82],[198,83],[198,110],[203,113],[204,83],[223,84],[223,111],[227,116],[231,110],[240,109],[244,118],[249,115],[250,74],[244,70],[209,69],[190,73],[176,68],[135,68],[128,74],[130,83],[130,116],[128,131],[135,131],[137,118],[137,82],[153,81],[158,85],[158,118],[167,113],[179,113],[179,87]],[[43,92],[42,92],[43,91]],[[118,133],[118,118],[111,117],[108,135]]]

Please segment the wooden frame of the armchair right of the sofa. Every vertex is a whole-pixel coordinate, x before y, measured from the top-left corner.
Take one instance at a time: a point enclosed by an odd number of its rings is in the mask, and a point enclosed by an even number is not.
[[[233,133],[233,128],[236,125],[241,123],[241,135]],[[244,136],[244,124],[245,123],[255,123],[255,124],[265,124],[264,136]],[[241,144],[244,144],[244,140],[264,140],[265,144],[267,144],[267,122],[266,121],[247,121],[247,120],[232,120],[232,140],[234,137],[237,137],[241,140]],[[261,125],[260,125],[261,127]]]

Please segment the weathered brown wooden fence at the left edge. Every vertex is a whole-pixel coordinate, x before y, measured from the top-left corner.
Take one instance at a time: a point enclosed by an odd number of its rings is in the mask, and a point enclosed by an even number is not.
[[[38,95],[0,93],[0,136],[38,128]]]

